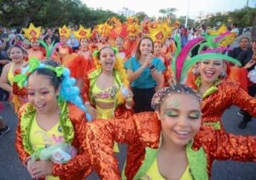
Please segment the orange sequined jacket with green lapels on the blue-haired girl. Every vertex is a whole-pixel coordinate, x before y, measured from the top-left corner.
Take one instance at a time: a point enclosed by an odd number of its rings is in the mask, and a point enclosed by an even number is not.
[[[61,108],[62,107],[62,108]],[[53,164],[53,176],[60,179],[84,179],[91,172],[90,161],[85,152],[88,148],[83,147],[85,137],[85,117],[84,112],[73,104],[64,103],[60,107],[62,113],[61,130],[64,132],[66,141],[70,140],[73,147],[78,150],[78,155],[65,164]],[[20,160],[23,164],[32,155],[32,147],[29,145],[29,132],[36,110],[32,104],[25,104],[20,108],[18,117],[19,123],[16,130],[16,143]],[[61,119],[60,116],[60,119]],[[70,121],[67,121],[67,118]]]

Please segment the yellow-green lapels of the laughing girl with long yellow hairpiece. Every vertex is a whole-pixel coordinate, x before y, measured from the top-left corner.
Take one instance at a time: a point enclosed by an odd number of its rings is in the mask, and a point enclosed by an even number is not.
[[[90,80],[90,92],[89,92],[89,98],[91,99],[93,104],[96,104],[95,99],[92,96],[92,87],[95,86],[96,81],[97,81],[97,77],[100,76],[102,73],[102,68],[98,68],[96,70],[93,70],[90,72],[89,74],[89,80]],[[117,84],[119,85],[119,88],[121,86],[122,80],[121,80],[121,74],[119,73],[118,70],[116,70],[115,68],[113,69],[113,77],[115,82],[117,82]],[[116,96],[115,96],[116,97]],[[117,107],[119,105],[118,99],[115,98],[115,107]]]

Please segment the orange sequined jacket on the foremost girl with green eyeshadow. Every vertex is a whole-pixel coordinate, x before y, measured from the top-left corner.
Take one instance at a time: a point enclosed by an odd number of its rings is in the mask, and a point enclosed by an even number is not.
[[[147,149],[159,149],[160,146],[160,121],[154,112],[143,112],[132,115],[128,119],[93,121],[86,125],[86,138],[84,143],[90,144],[91,166],[102,179],[120,179],[118,161],[113,153],[113,141],[128,143],[127,160],[125,164],[125,177],[133,179],[143,170],[143,163],[147,161]],[[224,134],[224,136],[226,136]],[[199,151],[201,147],[205,154],[202,159],[207,158],[205,171],[210,176],[213,160],[250,160],[256,161],[256,138],[252,142],[252,149],[244,147],[244,150],[236,149],[236,142],[226,142],[223,146],[216,144],[218,141],[217,132],[212,128],[201,128],[201,131],[194,138],[191,149]],[[197,162],[201,166],[201,161]],[[145,162],[146,163],[146,162]],[[196,163],[195,163],[196,164]],[[194,165],[195,165],[194,164]],[[195,166],[189,166],[193,172]],[[203,170],[203,168],[199,168]],[[201,176],[203,172],[196,172]]]

